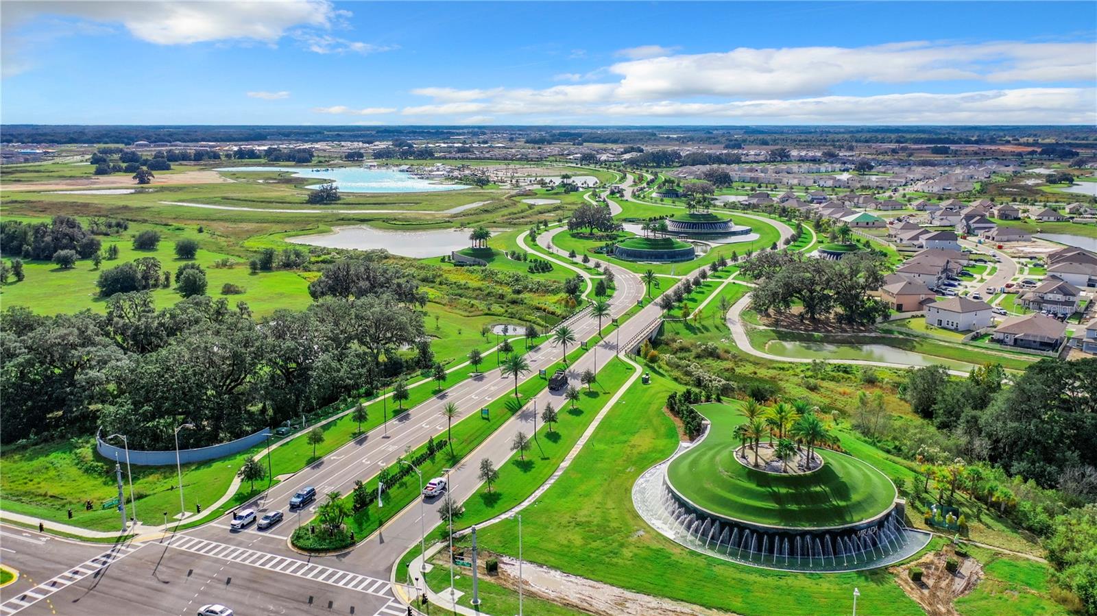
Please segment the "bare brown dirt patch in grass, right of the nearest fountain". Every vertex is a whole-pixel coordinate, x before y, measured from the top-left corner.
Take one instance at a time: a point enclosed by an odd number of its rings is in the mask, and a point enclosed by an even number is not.
[[[950,558],[959,562],[955,573],[946,568]],[[911,579],[909,570],[915,567],[923,571],[920,582]],[[892,567],[889,571],[895,574],[895,581],[903,591],[918,602],[929,616],[960,616],[955,600],[970,593],[983,578],[979,561],[957,556],[952,546],[929,552],[915,562]]]

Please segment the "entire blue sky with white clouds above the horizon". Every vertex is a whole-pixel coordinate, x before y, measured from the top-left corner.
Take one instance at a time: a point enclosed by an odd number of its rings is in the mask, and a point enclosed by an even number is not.
[[[3,123],[1097,123],[1092,2],[0,11]]]

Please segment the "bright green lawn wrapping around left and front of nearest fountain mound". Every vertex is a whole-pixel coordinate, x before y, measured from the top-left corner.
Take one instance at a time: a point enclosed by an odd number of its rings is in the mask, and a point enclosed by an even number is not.
[[[523,512],[527,559],[636,592],[748,616],[844,613],[851,606],[853,586],[861,590],[858,608],[866,614],[921,614],[886,571],[804,574],[739,566],[689,550],[647,526],[633,507],[632,486],[678,446],[663,404],[681,387],[657,366],[645,369],[652,373],[652,384],[636,381],[556,483]],[[514,521],[482,528],[478,537],[484,549],[518,554]]]

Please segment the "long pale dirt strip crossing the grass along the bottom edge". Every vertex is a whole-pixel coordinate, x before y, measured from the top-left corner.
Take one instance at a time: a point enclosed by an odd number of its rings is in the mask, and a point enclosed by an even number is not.
[[[493,581],[518,590],[518,561],[499,558]],[[635,593],[530,562],[522,563],[522,592],[598,616],[734,616],[731,612]]]

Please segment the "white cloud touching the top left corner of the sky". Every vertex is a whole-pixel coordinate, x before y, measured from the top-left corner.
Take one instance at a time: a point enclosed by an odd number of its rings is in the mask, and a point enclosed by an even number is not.
[[[37,15],[75,16],[93,22],[120,22],[135,37],[158,45],[207,41],[253,39],[272,43],[297,26],[329,27],[341,19],[327,0],[278,2],[41,1],[3,2],[4,30]]]

